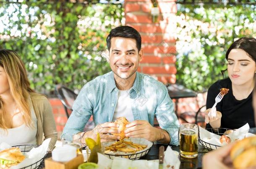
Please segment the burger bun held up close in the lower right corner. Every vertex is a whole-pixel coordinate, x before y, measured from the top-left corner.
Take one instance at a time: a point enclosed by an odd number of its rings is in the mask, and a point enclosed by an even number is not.
[[[256,136],[238,141],[230,151],[235,169],[256,167]]]

